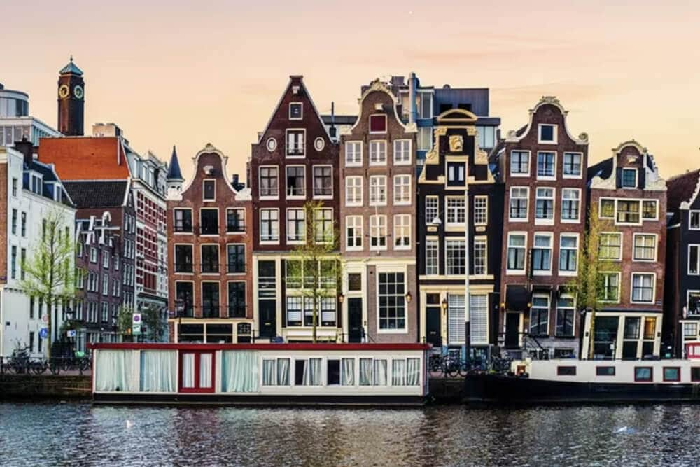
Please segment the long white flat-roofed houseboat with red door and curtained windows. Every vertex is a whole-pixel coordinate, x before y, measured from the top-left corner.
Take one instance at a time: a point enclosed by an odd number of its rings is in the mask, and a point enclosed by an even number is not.
[[[94,403],[423,405],[429,344],[92,344]]]

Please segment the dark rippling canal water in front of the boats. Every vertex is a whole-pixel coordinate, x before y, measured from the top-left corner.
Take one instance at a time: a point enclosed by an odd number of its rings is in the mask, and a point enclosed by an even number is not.
[[[0,466],[688,465],[700,406],[470,410],[0,403]]]

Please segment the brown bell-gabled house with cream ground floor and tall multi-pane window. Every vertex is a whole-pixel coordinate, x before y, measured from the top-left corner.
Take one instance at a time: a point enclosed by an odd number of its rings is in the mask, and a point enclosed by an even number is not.
[[[391,90],[375,80],[340,134],[343,333],[416,342],[416,125],[402,123]]]

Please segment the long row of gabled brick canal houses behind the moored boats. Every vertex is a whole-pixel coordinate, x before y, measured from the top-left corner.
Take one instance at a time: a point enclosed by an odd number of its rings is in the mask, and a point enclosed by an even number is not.
[[[412,74],[373,81],[358,100],[356,116],[321,115],[291,76],[251,148],[248,186],[211,144],[188,183],[173,154],[169,309],[181,312],[172,340],[311,340],[300,275],[323,265],[293,264],[307,200],[323,202],[316,232],[336,229],[342,256],[342,280],[321,300],[320,340],[549,357],[592,347],[596,358],[680,354],[698,340],[700,247],[685,235],[700,223],[697,172],[667,183],[636,141],[589,166],[587,134],[573,137],[554,97],[503,138],[488,90],[435,89]],[[693,189],[674,188],[681,182]],[[667,201],[669,191],[678,195]],[[601,258],[615,264],[592,335],[569,287],[591,212],[608,229]],[[680,235],[667,238],[667,223]],[[671,254],[684,268],[672,294]]]

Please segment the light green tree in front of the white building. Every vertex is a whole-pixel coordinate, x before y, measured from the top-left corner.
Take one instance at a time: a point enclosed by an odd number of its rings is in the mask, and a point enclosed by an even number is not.
[[[42,219],[41,239],[32,245],[30,256],[22,262],[25,278],[20,288],[30,298],[46,305],[48,321],[47,356],[51,357],[52,311],[59,303],[69,302],[76,296],[75,270],[76,244],[71,231],[72,219],[66,223],[62,209],[52,209]]]

